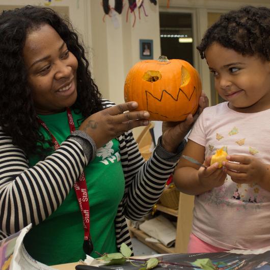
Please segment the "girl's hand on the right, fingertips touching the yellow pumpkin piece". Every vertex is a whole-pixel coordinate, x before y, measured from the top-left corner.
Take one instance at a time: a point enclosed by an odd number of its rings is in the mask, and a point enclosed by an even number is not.
[[[239,184],[257,183],[269,186],[269,165],[262,163],[258,158],[249,155],[228,155],[228,161],[223,161],[225,171],[231,176],[232,181]],[[268,188],[265,188],[269,190]]]

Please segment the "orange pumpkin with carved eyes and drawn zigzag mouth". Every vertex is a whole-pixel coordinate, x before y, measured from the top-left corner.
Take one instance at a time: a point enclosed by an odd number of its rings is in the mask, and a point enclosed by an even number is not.
[[[197,70],[180,59],[145,60],[128,72],[125,101],[137,101],[138,111],[148,111],[150,120],[183,121],[196,113],[201,95]]]

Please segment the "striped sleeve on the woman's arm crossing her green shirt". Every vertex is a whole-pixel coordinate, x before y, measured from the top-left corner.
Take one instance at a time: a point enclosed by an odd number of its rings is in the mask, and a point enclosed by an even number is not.
[[[0,129],[0,239],[40,223],[61,205],[89,162],[86,147],[70,138],[29,168],[24,152]]]

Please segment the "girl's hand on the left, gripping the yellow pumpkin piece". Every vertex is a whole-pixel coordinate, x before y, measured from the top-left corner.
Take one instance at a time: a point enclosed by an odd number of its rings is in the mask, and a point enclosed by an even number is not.
[[[226,172],[222,168],[219,169],[219,163],[210,166],[210,160],[211,156],[208,156],[203,163],[207,168],[201,167],[198,170],[199,182],[208,190],[223,185],[227,177]]]

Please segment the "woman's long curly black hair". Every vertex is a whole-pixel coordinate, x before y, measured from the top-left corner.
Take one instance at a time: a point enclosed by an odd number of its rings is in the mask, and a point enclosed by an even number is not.
[[[85,118],[102,110],[85,49],[70,22],[45,7],[4,11],[0,15],[0,126],[27,155],[40,153],[45,139],[39,131],[22,51],[28,33],[44,24],[57,31],[78,61],[77,99],[72,108]]]

